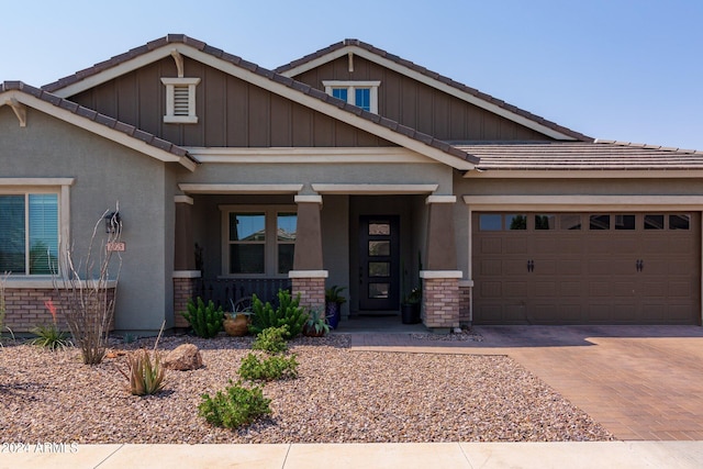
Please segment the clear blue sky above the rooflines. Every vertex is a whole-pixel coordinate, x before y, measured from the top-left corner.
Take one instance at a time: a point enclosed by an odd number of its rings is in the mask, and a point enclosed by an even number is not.
[[[40,0],[2,12],[0,80],[46,85],[168,33],[267,68],[353,37],[593,137],[703,150],[701,0]]]

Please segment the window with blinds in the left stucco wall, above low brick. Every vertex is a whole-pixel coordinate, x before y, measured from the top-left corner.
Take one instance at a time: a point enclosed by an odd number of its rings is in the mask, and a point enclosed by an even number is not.
[[[58,194],[0,194],[0,271],[51,275],[58,263]]]

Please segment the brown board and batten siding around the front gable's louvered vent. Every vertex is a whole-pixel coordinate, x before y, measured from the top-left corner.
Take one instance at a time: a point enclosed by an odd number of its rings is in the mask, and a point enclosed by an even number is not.
[[[163,77],[177,77],[176,65],[170,57],[69,99],[180,146],[395,146],[187,57],[185,77],[201,78],[196,87],[198,123],[166,124]]]

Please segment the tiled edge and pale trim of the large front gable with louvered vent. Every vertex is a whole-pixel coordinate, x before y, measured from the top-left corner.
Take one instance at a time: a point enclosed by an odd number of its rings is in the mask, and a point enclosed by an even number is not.
[[[174,51],[456,169],[469,170],[478,163],[478,158],[446,142],[434,138],[432,135],[347,104],[290,77],[259,67],[185,35],[171,34],[153,41],[46,85],[43,89],[58,97],[68,98],[167,57]]]

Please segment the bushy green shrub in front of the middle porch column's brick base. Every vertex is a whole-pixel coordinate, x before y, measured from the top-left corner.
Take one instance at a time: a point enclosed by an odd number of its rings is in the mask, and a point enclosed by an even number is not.
[[[288,325],[286,338],[290,339],[302,332],[308,315],[304,309],[300,306],[300,293],[292,298],[288,290],[279,290],[278,308],[276,310],[268,301],[264,304],[256,295],[253,295],[252,301],[252,310],[254,312],[252,325],[249,326],[252,333],[259,334],[268,327]]]

